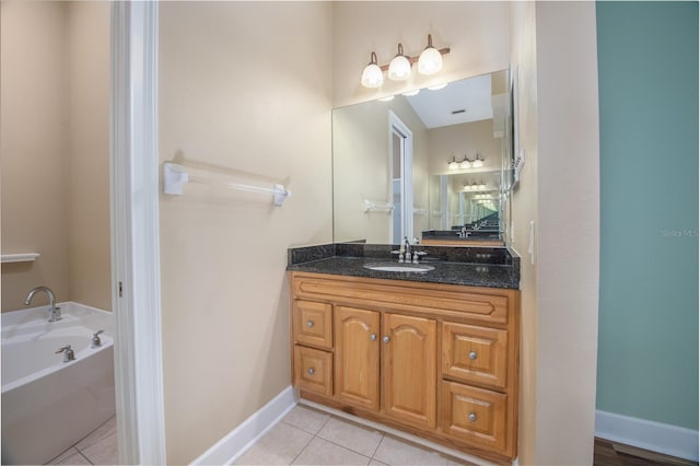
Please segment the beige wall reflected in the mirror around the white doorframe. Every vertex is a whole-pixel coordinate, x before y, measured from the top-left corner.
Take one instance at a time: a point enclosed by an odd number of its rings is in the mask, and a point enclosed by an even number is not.
[[[413,135],[413,206],[428,208],[428,137],[423,123],[408,101],[370,102],[334,110],[334,240],[392,243],[392,214],[364,212],[364,200],[390,203],[389,110]],[[413,217],[413,234],[428,225],[428,215]]]

